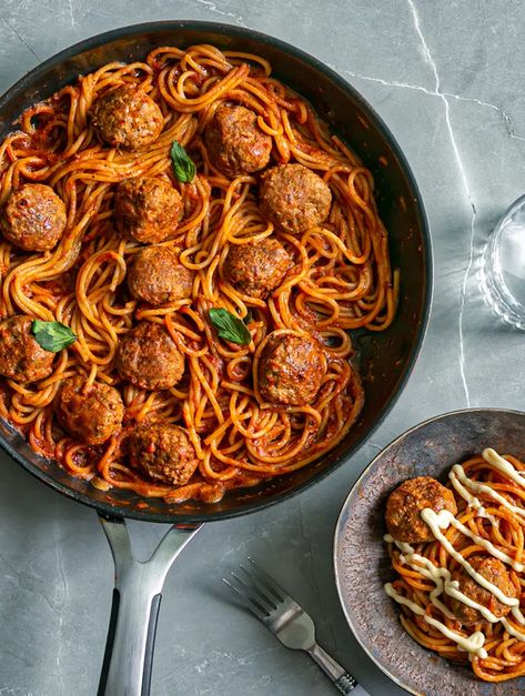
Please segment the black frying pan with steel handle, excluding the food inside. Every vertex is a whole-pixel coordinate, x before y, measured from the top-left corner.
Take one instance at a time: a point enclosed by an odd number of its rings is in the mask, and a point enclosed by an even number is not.
[[[264,56],[273,64],[275,77],[309,99],[372,170],[380,214],[390,232],[392,262],[401,269],[400,306],[386,332],[354,333],[366,401],[347,436],[319,462],[255,488],[233,491],[212,505],[190,501],[175,506],[157,498],[144,505],[144,500],[131,492],[99,491],[34,454],[18,433],[0,422],[0,445],[19,464],[60,493],[94,507],[103,522],[117,565],[117,584],[99,693],[111,696],[149,693],[162,583],[190,538],[188,525],[194,525],[194,529],[196,523],[234,517],[283,501],[320,481],[353,454],[400,395],[417,356],[431,303],[426,218],[410,167],[392,134],[366,101],[335,72],[272,37],[196,21],[138,24],[93,37],[49,59],[0,99],[0,138],[13,129],[23,109],[74,81],[79,73],[114,60],[141,60],[158,46],[194,43]],[[149,565],[133,561],[124,517],[174,525]],[[181,531],[182,525],[186,525],[186,531]]]

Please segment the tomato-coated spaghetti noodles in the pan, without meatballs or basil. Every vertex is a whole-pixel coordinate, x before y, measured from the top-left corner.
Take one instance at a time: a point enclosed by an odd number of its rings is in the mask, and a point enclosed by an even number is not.
[[[162,112],[159,138],[140,151],[101,144],[90,120],[97,98],[118,85],[137,87]],[[322,176],[333,196],[326,222],[299,235],[283,232],[258,206],[256,174],[226,176],[215,168],[203,132],[224,102],[256,114],[272,140],[273,164],[294,162]],[[174,141],[196,165],[191,183],[173,175]],[[117,184],[144,175],[180,192],[183,218],[162,246],[176,250],[194,274],[191,297],[159,306],[129,295],[127,270],[143,248],[122,239],[114,224]],[[229,488],[305,466],[344,437],[363,403],[347,331],[390,325],[397,274],[391,272],[371,172],[305,100],[271,75],[265,59],[212,46],[162,47],[145,62],[105,64],[21,115],[19,130],[0,144],[0,203],[38,182],[52,186],[67,211],[65,233],[52,251],[28,254],[0,243],[1,317],[59,321],[77,335],[49,377],[3,382],[0,413],[34,451],[102,490],[213,502]],[[269,236],[293,265],[267,300],[249,297],[225,281],[224,261],[230,248]],[[212,307],[242,319],[250,344],[220,340],[209,321]],[[183,354],[184,376],[172,389],[144,390],[119,376],[119,343],[138,321],[164,326]],[[258,399],[258,349],[273,331],[313,336],[322,345],[326,372],[307,405]],[[59,392],[75,375],[88,386],[97,381],[121,393],[122,428],[103,445],[87,445],[57,420]],[[159,483],[130,466],[127,442],[143,423],[186,428],[199,458],[188,484]]]

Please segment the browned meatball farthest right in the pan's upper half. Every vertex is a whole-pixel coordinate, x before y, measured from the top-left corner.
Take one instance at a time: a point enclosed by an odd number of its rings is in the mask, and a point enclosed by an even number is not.
[[[279,164],[261,176],[261,211],[280,230],[301,234],[326,220],[332,193],[302,164]]]

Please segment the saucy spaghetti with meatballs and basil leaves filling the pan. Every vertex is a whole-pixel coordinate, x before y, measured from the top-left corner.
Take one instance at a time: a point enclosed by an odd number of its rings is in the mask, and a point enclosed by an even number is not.
[[[363,404],[398,279],[371,172],[255,54],[162,47],[0,145],[0,413],[101,488],[220,500]]]

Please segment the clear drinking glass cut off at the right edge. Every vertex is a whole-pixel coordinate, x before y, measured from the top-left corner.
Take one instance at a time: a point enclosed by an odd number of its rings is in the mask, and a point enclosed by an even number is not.
[[[508,324],[525,331],[525,195],[514,201],[483,250],[485,300]]]

